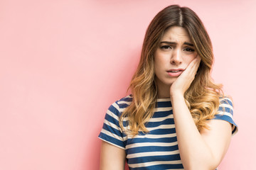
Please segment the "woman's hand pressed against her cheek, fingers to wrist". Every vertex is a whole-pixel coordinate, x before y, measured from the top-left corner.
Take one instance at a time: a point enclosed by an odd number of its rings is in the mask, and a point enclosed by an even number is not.
[[[196,56],[196,58],[188,64],[188,67],[183,71],[183,73],[171,84],[170,95],[184,95],[186,90],[188,90],[189,86],[193,79],[195,79],[196,72],[198,70],[201,58]]]

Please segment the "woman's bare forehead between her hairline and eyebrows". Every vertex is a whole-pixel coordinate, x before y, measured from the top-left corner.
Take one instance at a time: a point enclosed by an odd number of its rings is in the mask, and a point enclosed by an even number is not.
[[[185,28],[179,26],[171,26],[166,31],[161,38],[161,41],[171,41],[171,42],[191,42],[191,38],[188,35],[188,31]]]

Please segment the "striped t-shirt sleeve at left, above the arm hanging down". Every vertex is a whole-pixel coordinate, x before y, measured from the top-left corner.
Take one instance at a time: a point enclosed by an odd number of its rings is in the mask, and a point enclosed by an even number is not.
[[[105,115],[99,138],[121,149],[125,148],[123,132],[119,126],[119,106],[113,103]]]

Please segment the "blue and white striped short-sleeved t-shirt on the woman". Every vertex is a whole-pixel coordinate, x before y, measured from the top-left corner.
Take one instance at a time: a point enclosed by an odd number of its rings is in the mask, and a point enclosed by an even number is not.
[[[125,149],[127,164],[131,170],[183,169],[178,151],[171,99],[157,100],[154,115],[146,123],[149,133],[139,132],[135,137],[127,136],[119,127],[119,116],[131,101],[132,96],[129,95],[110,106],[105,115],[100,139]],[[233,105],[229,98],[220,100],[219,111],[215,119],[231,123],[234,135],[238,128],[233,121]]]

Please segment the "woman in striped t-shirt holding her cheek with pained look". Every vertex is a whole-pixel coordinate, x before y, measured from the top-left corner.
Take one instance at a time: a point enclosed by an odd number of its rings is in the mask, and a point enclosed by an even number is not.
[[[213,50],[190,8],[168,6],[146,30],[129,88],[100,132],[100,169],[216,169],[237,132],[233,106],[210,78]]]

